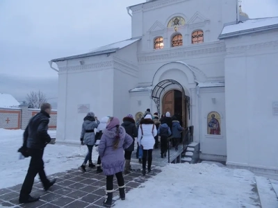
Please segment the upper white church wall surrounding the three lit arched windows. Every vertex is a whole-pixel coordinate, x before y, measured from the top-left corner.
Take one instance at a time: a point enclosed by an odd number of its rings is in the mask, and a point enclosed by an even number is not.
[[[186,20],[187,26],[178,28],[185,45],[191,44],[191,33],[200,29],[204,31],[205,42],[218,40],[223,25],[236,21],[236,0],[160,0],[131,6],[131,10],[132,37],[142,36],[142,51],[153,49],[154,38],[158,36],[164,38],[165,47],[170,47],[174,29],[167,29],[167,24],[173,17]]]

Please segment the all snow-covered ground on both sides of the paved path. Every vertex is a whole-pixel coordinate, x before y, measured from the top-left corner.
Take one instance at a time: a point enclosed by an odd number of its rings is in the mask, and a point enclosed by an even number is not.
[[[19,160],[17,149],[22,146],[22,135],[22,130],[0,129],[0,189],[21,184],[24,180],[30,159]],[[56,131],[49,131],[49,135],[55,137]],[[44,150],[45,170],[50,175],[77,168],[86,153],[85,146],[48,145]],[[97,156],[97,151],[93,150],[93,160],[96,161]],[[276,194],[269,187],[278,192],[278,182],[256,178],[261,187],[262,205],[266,205],[263,208],[276,207]],[[126,193],[126,200],[117,200],[115,207],[259,207],[254,174],[229,169],[218,162],[170,164],[142,187],[144,189]]]

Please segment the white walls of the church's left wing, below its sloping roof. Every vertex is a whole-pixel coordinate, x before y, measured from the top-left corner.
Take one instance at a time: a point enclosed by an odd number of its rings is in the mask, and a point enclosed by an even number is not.
[[[80,60],[85,64],[81,65]],[[86,113],[79,113],[78,105],[89,104],[90,111],[99,118],[113,114],[112,60],[105,60],[103,56],[80,60],[58,62],[58,141],[80,141]]]

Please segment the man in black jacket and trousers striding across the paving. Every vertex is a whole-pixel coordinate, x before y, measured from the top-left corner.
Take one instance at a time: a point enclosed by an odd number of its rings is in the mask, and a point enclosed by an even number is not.
[[[23,146],[19,149],[19,152],[22,153],[24,157],[31,157],[28,172],[20,191],[19,203],[35,202],[40,199],[39,197],[33,198],[30,196],[37,174],[40,175],[40,180],[45,191],[56,182],[56,179],[47,179],[47,175],[44,173],[44,162],[42,160],[44,147],[51,141],[51,137],[47,134],[51,105],[49,103],[43,103],[40,110],[40,113],[30,119],[24,131]]]

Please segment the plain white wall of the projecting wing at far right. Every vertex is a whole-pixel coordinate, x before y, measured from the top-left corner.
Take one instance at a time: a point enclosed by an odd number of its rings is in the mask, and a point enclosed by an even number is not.
[[[278,31],[226,40],[227,164],[278,174]]]

